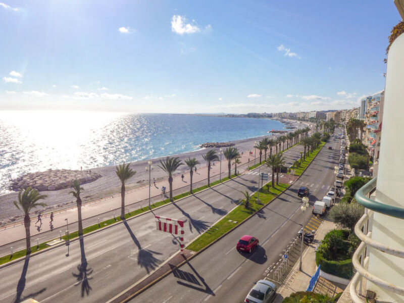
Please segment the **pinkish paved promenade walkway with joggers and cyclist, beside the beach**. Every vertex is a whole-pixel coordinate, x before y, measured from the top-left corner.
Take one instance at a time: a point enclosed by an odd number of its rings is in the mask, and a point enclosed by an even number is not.
[[[301,146],[297,146],[301,147]],[[294,147],[296,148],[296,147]],[[254,153],[254,149],[251,148],[251,151]],[[257,150],[257,156],[259,155]],[[268,150],[269,155],[269,150]],[[267,155],[267,156],[268,156]],[[285,157],[287,158],[288,152],[285,152]],[[248,160],[249,163],[248,163]],[[262,160],[264,161],[264,155],[262,156]],[[254,155],[251,157],[247,152],[244,152],[242,157],[240,158],[241,164],[237,166],[237,171],[242,173],[247,167],[254,165]],[[259,162],[259,157],[256,159],[256,163]],[[222,174],[221,177],[227,177],[227,160],[222,155]],[[155,163],[154,165],[157,165]],[[207,184],[208,177],[208,168],[205,163],[201,163],[200,166],[197,167],[196,173],[193,173],[193,188],[198,186],[203,186]],[[232,163],[232,173],[234,173],[234,165]],[[214,166],[211,167],[211,182],[214,180],[219,180],[220,177],[220,162],[216,162]],[[189,171],[184,173],[184,179],[181,180],[181,176],[175,177],[173,180],[173,193],[174,195],[180,194],[182,192],[189,191],[190,184],[190,176]],[[166,196],[161,194],[161,188],[165,186]],[[164,198],[167,198],[169,194],[169,184],[168,180],[165,179],[163,181],[156,182],[156,185],[153,183],[153,171],[151,172],[151,186],[150,186],[150,202],[153,204],[154,202],[161,201]],[[148,196],[149,196],[149,187],[140,187],[138,189],[127,191],[125,195],[125,205],[126,212],[133,211],[139,208],[147,208],[148,207]],[[83,204],[82,206],[82,218],[83,218],[83,227],[87,227],[89,225],[96,224],[99,221],[104,221],[106,219],[110,219],[113,216],[120,216],[120,207],[121,207],[121,195],[116,194],[108,199],[102,199],[98,201],[89,202]],[[36,243],[36,239],[39,242],[43,242],[44,240],[48,240],[51,238],[56,238],[60,234],[64,235],[65,231],[68,229],[67,223],[69,224],[70,232],[77,230],[77,208],[73,207],[70,209],[66,209],[63,211],[55,211],[54,212],[54,220],[51,225],[50,214],[43,214],[41,218],[41,222],[37,222],[35,217],[31,218],[31,242],[32,245]],[[10,254],[10,247],[13,246],[13,250],[16,251],[18,249],[22,249],[25,247],[25,241],[21,241],[25,239],[25,228],[23,221],[15,222],[14,224],[8,225],[6,227],[2,227],[0,230],[0,256],[4,256]],[[19,243],[16,243],[19,241]]]

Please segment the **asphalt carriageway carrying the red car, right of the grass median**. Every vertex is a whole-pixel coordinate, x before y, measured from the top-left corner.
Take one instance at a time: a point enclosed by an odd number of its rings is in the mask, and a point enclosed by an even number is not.
[[[338,130],[336,130],[338,133]],[[332,146],[333,150],[328,147]],[[242,302],[253,282],[264,278],[265,270],[279,260],[283,248],[301,228],[301,198],[297,189],[311,189],[310,205],[321,200],[335,180],[339,140],[331,138],[304,175],[272,201],[263,212],[226,235],[131,302]],[[306,222],[312,215],[308,208]],[[238,252],[238,239],[249,234],[260,239],[251,255]]]

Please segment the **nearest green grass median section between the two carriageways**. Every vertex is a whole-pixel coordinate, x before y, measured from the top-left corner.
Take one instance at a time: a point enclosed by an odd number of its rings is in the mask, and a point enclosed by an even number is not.
[[[226,232],[239,225],[241,222],[246,220],[252,214],[255,214],[264,205],[270,203],[276,196],[278,196],[282,191],[284,191],[289,185],[284,183],[275,184],[275,187],[269,187],[266,185],[260,190],[260,200],[261,203],[258,204],[257,192],[252,196],[250,200],[250,206],[245,208],[244,205],[239,205],[229,214],[227,214],[222,220],[213,225],[204,234],[198,237],[195,241],[189,244],[186,249],[199,251],[208,244],[212,243],[220,236],[224,235]],[[230,221],[231,220],[231,221]],[[236,223],[234,223],[236,222]]]

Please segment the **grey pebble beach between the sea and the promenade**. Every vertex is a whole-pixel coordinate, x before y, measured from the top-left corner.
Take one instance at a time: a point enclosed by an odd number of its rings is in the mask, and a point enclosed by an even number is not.
[[[283,119],[286,121],[286,119]],[[297,128],[304,128],[307,124],[298,123],[297,121],[290,120]],[[293,130],[290,130],[293,131]],[[276,136],[280,136],[282,134],[272,135],[268,134],[268,136],[275,138]],[[243,140],[231,141],[234,143],[234,147],[238,148],[240,154],[243,153],[243,157],[241,159],[242,163],[254,159],[254,155],[252,157],[248,156],[248,151],[252,151],[254,153],[254,142],[261,140],[264,136],[255,137],[255,138],[246,138]],[[206,167],[206,162],[203,159],[203,156],[207,153],[209,149],[216,149],[219,151],[219,148],[201,148],[198,150],[191,151],[189,153],[183,153],[178,155],[172,155],[170,157],[178,157],[182,162],[188,158],[196,158],[199,161],[199,165],[197,168]],[[259,157],[257,151],[257,157]],[[160,160],[165,157],[151,159],[153,162],[153,171],[151,172],[151,183],[153,184],[153,178],[156,179],[156,182],[167,179],[166,173],[159,167]],[[222,156],[222,160],[225,160],[224,156]],[[146,166],[148,160],[137,161],[130,163],[130,168],[136,171],[136,174],[127,181],[126,190],[132,190],[135,188],[139,188],[142,186],[148,186],[148,172],[146,171]],[[88,201],[97,200],[99,198],[103,198],[106,196],[110,196],[113,194],[120,193],[121,191],[121,181],[118,179],[115,173],[115,166],[107,166],[107,167],[99,167],[92,168],[91,172],[98,173],[102,175],[99,179],[91,182],[83,184],[82,187],[84,191],[82,192],[82,200],[83,203]],[[226,173],[227,167],[222,167],[222,171]],[[187,166],[184,164],[180,166],[180,168],[176,171],[175,176],[179,176],[182,173],[189,172]],[[86,171],[83,171],[86,173]],[[224,175],[225,176],[225,175]],[[168,182],[166,184],[168,188]],[[67,208],[69,206],[75,205],[75,199],[72,194],[69,194],[71,188],[65,188],[54,191],[41,191],[41,194],[46,194],[47,197],[43,200],[43,202],[47,205],[47,207],[52,207],[52,210],[56,211],[58,209]],[[5,221],[6,219],[14,218],[13,220],[19,220],[22,216],[21,211],[19,211],[13,204],[14,200],[17,200],[18,192],[11,192],[5,195],[0,196],[0,221]]]

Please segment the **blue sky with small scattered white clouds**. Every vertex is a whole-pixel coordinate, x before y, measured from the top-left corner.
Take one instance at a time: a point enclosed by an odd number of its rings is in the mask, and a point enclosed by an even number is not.
[[[0,0],[0,110],[351,109],[399,21],[392,0]]]

